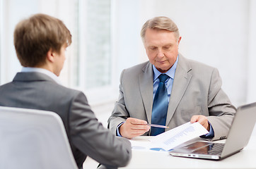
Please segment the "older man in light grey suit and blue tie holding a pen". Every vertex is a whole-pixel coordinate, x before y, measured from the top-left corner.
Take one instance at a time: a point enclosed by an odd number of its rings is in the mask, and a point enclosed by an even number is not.
[[[149,61],[122,71],[120,96],[108,120],[110,130],[132,138],[165,132],[150,130],[147,123],[170,130],[190,121],[202,124],[208,139],[226,138],[236,109],[221,89],[218,70],[178,52],[181,37],[170,18],[147,20],[141,38]]]

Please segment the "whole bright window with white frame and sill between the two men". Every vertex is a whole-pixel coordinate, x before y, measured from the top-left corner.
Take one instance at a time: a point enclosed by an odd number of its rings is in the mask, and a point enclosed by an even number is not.
[[[93,102],[116,99],[112,81],[111,0],[78,0],[77,5],[72,86],[84,90]]]

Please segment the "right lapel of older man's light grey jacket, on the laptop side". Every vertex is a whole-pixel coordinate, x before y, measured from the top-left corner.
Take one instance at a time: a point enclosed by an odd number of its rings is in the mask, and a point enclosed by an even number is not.
[[[175,110],[180,103],[180,100],[182,99],[188,84],[190,83],[192,77],[192,75],[189,74],[190,70],[190,65],[188,65],[185,61],[185,58],[179,54],[178,66],[175,71],[173,88],[170,94],[166,125],[170,123],[170,120],[173,117],[173,114],[175,113]]]

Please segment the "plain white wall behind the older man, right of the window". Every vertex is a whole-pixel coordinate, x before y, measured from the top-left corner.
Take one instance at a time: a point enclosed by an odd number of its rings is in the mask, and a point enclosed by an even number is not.
[[[218,68],[223,89],[235,106],[256,101],[255,0],[119,0],[118,3],[118,56],[124,58],[120,68],[146,61],[138,38],[141,26],[149,18],[165,15],[180,29],[180,52]],[[129,11],[133,12],[128,15]],[[127,62],[127,58],[132,61]]]

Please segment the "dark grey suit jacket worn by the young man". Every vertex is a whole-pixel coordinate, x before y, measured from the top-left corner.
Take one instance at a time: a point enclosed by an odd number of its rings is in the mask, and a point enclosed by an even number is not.
[[[63,120],[78,168],[86,156],[117,168],[132,156],[127,139],[116,137],[97,118],[82,92],[57,84],[42,73],[17,73],[0,87],[0,106],[34,108],[57,113]]]

